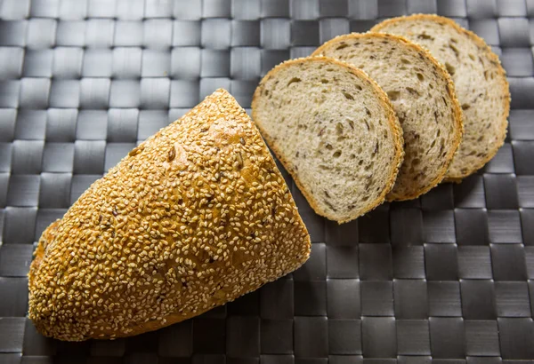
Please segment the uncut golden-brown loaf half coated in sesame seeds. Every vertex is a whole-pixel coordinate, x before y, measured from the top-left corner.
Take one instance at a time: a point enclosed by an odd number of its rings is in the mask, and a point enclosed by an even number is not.
[[[310,236],[262,137],[227,91],[97,180],[39,240],[29,318],[45,336],[133,336],[294,271]]]

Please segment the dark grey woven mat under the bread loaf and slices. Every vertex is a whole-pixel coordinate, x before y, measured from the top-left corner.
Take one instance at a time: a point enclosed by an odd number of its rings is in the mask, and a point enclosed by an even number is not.
[[[313,241],[298,272],[142,336],[36,333],[35,241],[136,143],[218,87],[250,107],[280,61],[412,12],[453,17],[503,61],[510,128],[484,170],[343,226],[287,178]],[[534,1],[0,0],[0,19],[1,363],[534,361]]]

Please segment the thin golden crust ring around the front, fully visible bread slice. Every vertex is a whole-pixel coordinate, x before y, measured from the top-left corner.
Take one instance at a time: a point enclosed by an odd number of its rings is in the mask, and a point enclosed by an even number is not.
[[[275,76],[281,69],[284,69],[286,67],[303,63],[303,62],[309,62],[309,61],[317,61],[317,62],[323,62],[326,64],[336,64],[341,67],[347,68],[353,75],[356,75],[360,78],[363,78],[367,80],[373,87],[373,89],[376,91],[380,101],[382,102],[384,109],[387,113],[387,119],[388,123],[390,124],[390,128],[392,130],[393,138],[394,138],[394,146],[395,146],[395,155],[394,155],[394,167],[392,168],[392,173],[390,177],[388,178],[388,182],[386,184],[386,187],[382,191],[382,193],[376,198],[375,201],[371,201],[368,203],[368,206],[365,210],[357,211],[354,213],[351,217],[345,218],[342,220],[336,219],[335,216],[328,214],[328,211],[321,210],[319,203],[316,201],[315,197],[312,194],[309,194],[308,191],[303,187],[303,183],[300,179],[300,177],[294,173],[294,171],[289,168],[289,162],[287,161],[286,157],[283,153],[279,150],[279,148],[275,145],[272,138],[266,133],[266,131],[263,129],[262,122],[258,120],[257,114],[255,112],[256,110],[256,103],[258,102],[258,99],[261,97],[262,91],[263,91],[263,85],[264,83],[270,79],[271,77]],[[364,71],[361,69],[352,66],[351,64],[344,62],[339,59],[332,59],[328,57],[323,56],[314,56],[314,57],[305,57],[305,58],[298,58],[298,59],[289,59],[282,63],[280,63],[278,66],[273,67],[271,71],[267,73],[258,84],[257,88],[255,89],[254,96],[252,98],[252,119],[258,129],[261,131],[263,138],[267,141],[267,144],[271,147],[271,150],[276,154],[279,161],[282,163],[284,168],[287,170],[287,172],[291,175],[293,180],[295,181],[295,185],[298,187],[298,189],[302,192],[303,196],[306,198],[306,200],[310,203],[310,206],[312,206],[312,209],[320,216],[328,218],[330,220],[336,221],[338,224],[343,224],[346,222],[349,222],[353,220],[354,218],[358,218],[361,215],[367,213],[370,210],[373,210],[376,208],[376,206],[380,205],[385,200],[386,194],[388,194],[395,183],[395,180],[397,178],[397,174],[399,173],[399,169],[401,168],[402,160],[404,157],[404,150],[402,148],[403,144],[403,137],[402,137],[402,129],[401,129],[401,123],[399,123],[399,119],[397,118],[397,115],[395,115],[395,112],[393,111],[392,105],[390,103],[389,98],[385,94],[385,92],[382,90],[382,88],[378,85],[378,83],[375,82],[372,78],[370,78]]]

